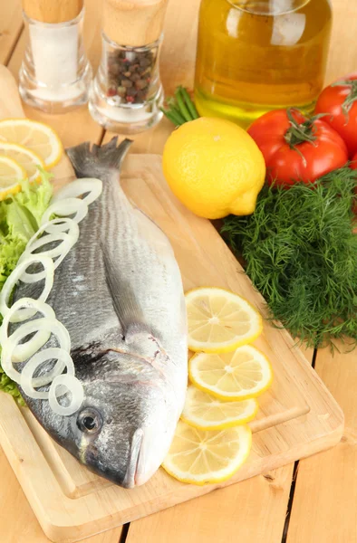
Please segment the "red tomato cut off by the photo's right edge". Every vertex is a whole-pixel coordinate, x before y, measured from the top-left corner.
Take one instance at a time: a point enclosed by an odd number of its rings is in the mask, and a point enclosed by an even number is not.
[[[315,113],[330,113],[323,118],[345,141],[350,158],[357,153],[357,73],[323,90]],[[343,84],[344,83],[344,84]]]

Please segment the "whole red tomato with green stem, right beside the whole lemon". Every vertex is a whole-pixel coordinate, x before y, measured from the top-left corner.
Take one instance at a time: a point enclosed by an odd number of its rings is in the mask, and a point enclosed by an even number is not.
[[[343,138],[322,119],[307,119],[298,110],[273,110],[249,127],[265,157],[270,183],[309,183],[348,160]]]

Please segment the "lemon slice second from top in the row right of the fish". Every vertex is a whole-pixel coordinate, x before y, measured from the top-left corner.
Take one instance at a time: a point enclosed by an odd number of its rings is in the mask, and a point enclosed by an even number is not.
[[[261,395],[271,385],[273,372],[267,358],[251,345],[234,353],[199,353],[188,362],[191,382],[222,400],[245,400]]]

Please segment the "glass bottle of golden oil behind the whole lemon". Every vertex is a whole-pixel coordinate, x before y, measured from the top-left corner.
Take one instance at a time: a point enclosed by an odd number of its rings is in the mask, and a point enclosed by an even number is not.
[[[199,114],[247,127],[268,110],[311,112],[323,88],[331,26],[330,0],[202,0]]]

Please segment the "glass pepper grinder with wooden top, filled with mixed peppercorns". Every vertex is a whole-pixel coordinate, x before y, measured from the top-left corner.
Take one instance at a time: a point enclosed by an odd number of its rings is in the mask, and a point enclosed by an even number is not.
[[[89,110],[105,129],[134,134],[162,117],[159,49],[168,0],[103,0],[101,65]]]

